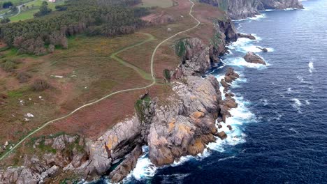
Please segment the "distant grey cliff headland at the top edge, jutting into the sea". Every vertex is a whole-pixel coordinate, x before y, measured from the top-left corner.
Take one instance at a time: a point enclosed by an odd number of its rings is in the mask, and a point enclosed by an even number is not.
[[[233,20],[259,15],[260,10],[303,8],[298,0],[200,0],[226,10]]]

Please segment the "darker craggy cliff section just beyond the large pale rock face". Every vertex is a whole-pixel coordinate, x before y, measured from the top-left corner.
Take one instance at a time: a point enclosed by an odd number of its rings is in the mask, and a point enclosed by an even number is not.
[[[171,79],[184,76],[202,75],[210,70],[212,63],[219,63],[219,56],[226,53],[226,44],[238,39],[231,19],[215,20],[215,36],[210,45],[203,44],[198,38],[184,38],[175,43],[175,53],[180,56],[181,63],[173,71]]]

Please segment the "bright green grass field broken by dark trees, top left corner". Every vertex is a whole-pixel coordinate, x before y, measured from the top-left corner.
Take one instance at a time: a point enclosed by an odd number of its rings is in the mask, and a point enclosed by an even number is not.
[[[29,20],[32,19],[34,17],[34,13],[38,12],[41,4],[42,4],[42,0],[36,0],[36,1],[31,1],[30,3],[27,3],[25,8],[22,8],[22,11],[20,12],[19,15],[17,16],[13,16],[13,17],[9,17],[11,22],[18,22],[20,20]],[[48,2],[48,7],[51,8],[52,10],[55,10],[55,6],[63,4],[64,1],[56,1],[55,3],[52,2]],[[27,8],[27,6],[29,8]]]

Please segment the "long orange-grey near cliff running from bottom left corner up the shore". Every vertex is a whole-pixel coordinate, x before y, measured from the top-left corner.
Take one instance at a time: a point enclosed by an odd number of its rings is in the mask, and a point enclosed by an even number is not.
[[[173,91],[169,98],[141,96],[135,104],[136,113],[96,141],[68,135],[36,141],[36,148],[48,146],[49,152],[26,158],[22,167],[0,171],[0,183],[45,183],[47,178],[63,171],[73,171],[80,179],[106,175],[112,182],[119,182],[136,167],[143,145],[149,147],[150,160],[163,166],[185,155],[203,153],[208,143],[226,138],[215,122],[217,118],[224,121],[231,116],[228,110],[237,105],[232,95],[222,100],[220,84],[214,76],[201,76],[219,62],[226,44],[238,35],[228,18],[216,20],[213,29],[215,36],[210,45],[198,38],[184,38],[175,43],[181,63],[168,74]],[[226,82],[237,77],[229,69]]]

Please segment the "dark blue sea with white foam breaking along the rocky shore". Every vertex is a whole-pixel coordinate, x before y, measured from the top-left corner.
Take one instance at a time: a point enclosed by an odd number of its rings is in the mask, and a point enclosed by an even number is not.
[[[207,157],[157,169],[152,177],[134,172],[127,183],[327,183],[327,1],[303,5],[306,10],[235,22],[259,40],[239,40],[224,60],[242,77],[231,89],[240,107],[229,139]],[[268,66],[245,63],[247,51]]]

